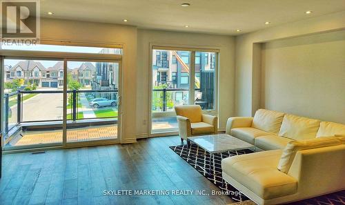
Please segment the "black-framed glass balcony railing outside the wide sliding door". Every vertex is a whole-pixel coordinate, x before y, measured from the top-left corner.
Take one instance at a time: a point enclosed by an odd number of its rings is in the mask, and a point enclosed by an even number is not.
[[[68,90],[67,122],[94,119],[117,123],[118,90]],[[18,90],[4,95],[4,135],[22,124],[60,124],[63,120],[63,90]],[[69,125],[70,126],[70,125]],[[70,126],[71,127],[71,126]]]

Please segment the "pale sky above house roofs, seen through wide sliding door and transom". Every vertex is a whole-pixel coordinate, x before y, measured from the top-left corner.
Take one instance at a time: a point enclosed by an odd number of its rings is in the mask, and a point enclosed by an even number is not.
[[[43,45],[43,44],[37,44],[37,45],[1,45],[0,49],[9,49],[9,50],[36,50],[36,51],[50,51],[50,52],[84,52],[84,53],[99,53],[103,48],[97,48],[97,47],[82,47],[82,46],[55,46],[55,45]],[[5,65],[8,66],[14,66],[18,63],[17,59],[6,59]],[[52,67],[55,64],[57,64],[57,61],[40,61],[43,66],[46,68]],[[78,68],[83,62],[80,61],[68,61],[68,68]],[[95,62],[91,62],[95,66]]]

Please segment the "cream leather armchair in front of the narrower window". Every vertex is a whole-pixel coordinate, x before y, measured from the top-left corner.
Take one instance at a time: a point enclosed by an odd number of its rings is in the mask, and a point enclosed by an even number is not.
[[[182,142],[191,136],[213,135],[218,132],[218,117],[202,114],[200,106],[175,106],[175,112]]]

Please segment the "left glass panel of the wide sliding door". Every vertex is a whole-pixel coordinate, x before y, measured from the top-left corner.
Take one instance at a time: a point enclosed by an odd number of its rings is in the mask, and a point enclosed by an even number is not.
[[[5,57],[3,63],[5,148],[61,145],[63,61]]]

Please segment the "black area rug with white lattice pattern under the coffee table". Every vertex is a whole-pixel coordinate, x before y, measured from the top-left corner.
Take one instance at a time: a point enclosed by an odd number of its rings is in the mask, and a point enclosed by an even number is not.
[[[190,148],[187,145],[183,146],[170,146],[170,148],[177,153],[182,159],[184,159],[190,166],[193,166],[201,175],[204,175],[210,182],[215,184],[217,187],[223,191],[224,194],[228,195],[231,199],[238,204],[255,204],[251,202],[248,197],[246,197],[240,191],[230,184],[223,181],[221,177],[221,159],[226,157],[243,155],[248,153],[253,153],[253,150],[244,149],[236,151],[228,151],[225,153],[219,153],[213,155],[214,163],[210,164],[210,155],[199,146],[191,144]],[[339,205],[345,204],[345,190],[339,191],[337,193],[331,193],[328,195],[322,195],[319,197],[314,197],[311,199],[305,199],[299,202],[290,203],[290,205],[311,205],[311,204],[327,204],[327,205]]]

